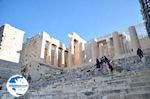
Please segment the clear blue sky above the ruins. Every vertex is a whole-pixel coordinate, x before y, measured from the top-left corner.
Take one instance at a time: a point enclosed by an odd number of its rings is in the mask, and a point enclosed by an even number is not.
[[[85,40],[142,22],[139,0],[0,0],[0,25],[46,31],[65,44],[69,32]]]

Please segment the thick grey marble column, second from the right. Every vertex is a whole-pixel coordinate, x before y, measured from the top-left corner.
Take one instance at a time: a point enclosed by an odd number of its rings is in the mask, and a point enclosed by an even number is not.
[[[113,42],[114,42],[115,57],[118,57],[122,54],[120,37],[119,37],[118,32],[113,32],[112,36],[113,36]]]

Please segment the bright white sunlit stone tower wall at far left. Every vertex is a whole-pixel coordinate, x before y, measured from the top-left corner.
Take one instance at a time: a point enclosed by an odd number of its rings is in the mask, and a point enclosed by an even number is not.
[[[24,31],[5,24],[0,34],[0,59],[19,63]]]

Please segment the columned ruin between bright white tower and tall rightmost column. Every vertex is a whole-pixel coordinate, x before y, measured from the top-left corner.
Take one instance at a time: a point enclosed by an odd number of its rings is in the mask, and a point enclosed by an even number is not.
[[[115,55],[118,57],[125,53],[125,36],[118,32],[115,34],[118,37],[118,39],[115,38],[115,43],[113,36],[95,38],[86,42],[73,32],[68,35],[69,47],[65,48],[63,43],[51,38],[48,33],[39,33],[23,44],[20,63],[26,65],[32,61],[38,61],[56,67],[70,68],[88,62],[94,63],[96,58],[103,55],[112,59]]]

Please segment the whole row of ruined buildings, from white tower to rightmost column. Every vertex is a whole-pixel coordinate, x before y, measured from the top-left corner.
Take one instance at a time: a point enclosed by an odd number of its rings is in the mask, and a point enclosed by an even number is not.
[[[128,32],[130,41],[127,35],[115,31],[88,42],[72,32],[68,34],[69,45],[65,47],[62,42],[50,37],[46,32],[39,33],[23,43],[24,32],[6,24],[0,29],[0,58],[20,61],[21,66],[36,61],[54,67],[72,68],[85,63],[95,63],[95,59],[103,55],[109,59],[117,59],[125,54],[135,55],[137,48],[149,49],[149,39],[139,40],[134,26],[130,26]]]

